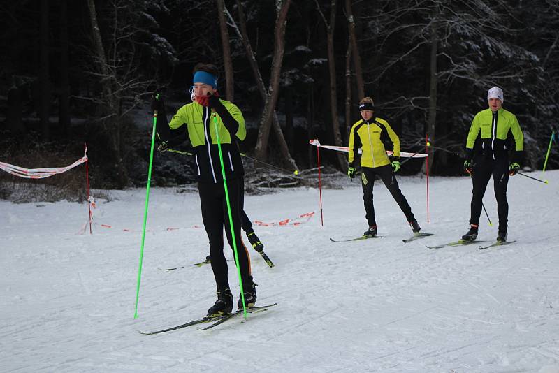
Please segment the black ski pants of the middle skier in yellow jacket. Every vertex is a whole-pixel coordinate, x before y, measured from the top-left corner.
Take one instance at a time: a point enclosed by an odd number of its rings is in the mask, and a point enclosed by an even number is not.
[[[367,218],[367,223],[369,226],[376,226],[377,223],[375,221],[375,206],[373,205],[372,201],[372,187],[375,184],[375,176],[378,175],[382,182],[389,192],[392,194],[392,197],[400,206],[402,212],[404,212],[407,221],[414,221],[415,217],[412,212],[412,207],[409,207],[409,203],[405,196],[400,191],[400,187],[398,186],[398,181],[396,181],[396,177],[392,172],[392,166],[386,165],[381,167],[363,167],[361,168],[361,186],[363,187],[363,203],[365,204],[365,217]]]

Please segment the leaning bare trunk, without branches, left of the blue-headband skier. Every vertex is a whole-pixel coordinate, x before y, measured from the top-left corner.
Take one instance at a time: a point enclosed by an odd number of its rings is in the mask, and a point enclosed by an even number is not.
[[[126,168],[124,168],[124,165],[122,164],[122,156],[120,154],[120,128],[117,123],[119,105],[115,102],[116,100],[111,86],[114,77],[108,67],[107,59],[105,57],[105,48],[103,47],[103,41],[101,41],[101,31],[99,30],[99,24],[97,23],[95,1],[87,0],[87,6],[89,7],[89,20],[92,23],[95,62],[101,75],[103,76],[101,79],[101,87],[103,87],[103,96],[106,102],[106,108],[103,110],[103,116],[105,117],[104,122],[106,123],[108,136],[110,138],[109,148],[112,152],[112,158],[116,162],[117,181],[119,186],[122,188],[128,184],[129,178]]]

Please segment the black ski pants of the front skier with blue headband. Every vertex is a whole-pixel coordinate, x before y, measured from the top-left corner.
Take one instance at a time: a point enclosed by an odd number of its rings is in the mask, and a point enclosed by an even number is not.
[[[231,179],[227,180],[227,186],[242,283],[249,284],[252,281],[250,256],[240,236],[242,206],[245,200],[245,182],[242,178]],[[198,182],[198,193],[200,194],[202,220],[205,231],[208,234],[208,240],[210,241],[212,271],[214,272],[217,289],[222,290],[229,287],[227,261],[223,251],[224,226],[227,241],[229,246],[231,246],[231,250],[233,250],[233,237],[231,235],[224,184],[223,182],[218,182],[217,184]]]

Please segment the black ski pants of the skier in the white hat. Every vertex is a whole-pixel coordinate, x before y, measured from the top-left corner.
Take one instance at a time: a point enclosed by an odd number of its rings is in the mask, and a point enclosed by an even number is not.
[[[470,204],[470,224],[479,225],[481,203],[489,179],[493,176],[493,189],[497,199],[497,214],[499,216],[499,231],[507,231],[509,217],[509,203],[507,202],[507,184],[509,184],[509,161],[507,158],[491,159],[479,157],[474,161],[474,175],[472,175],[472,203]]]

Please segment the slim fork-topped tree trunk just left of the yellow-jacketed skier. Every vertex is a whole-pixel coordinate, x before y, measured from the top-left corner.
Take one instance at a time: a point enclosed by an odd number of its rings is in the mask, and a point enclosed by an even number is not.
[[[334,136],[334,143],[337,146],[342,146],[342,136],[340,136],[340,120],[337,118],[337,98],[336,98],[336,66],[335,66],[335,51],[334,51],[334,29],[336,21],[336,6],[337,1],[330,1],[330,21],[326,21],[324,13],[320,10],[320,6],[317,0],[317,8],[322,20],[324,20],[324,25],[326,26],[326,42],[328,45],[328,75],[330,77],[330,112],[332,117],[332,133]],[[347,161],[340,152],[337,152],[337,161],[340,166],[340,170],[344,170],[347,166]]]

